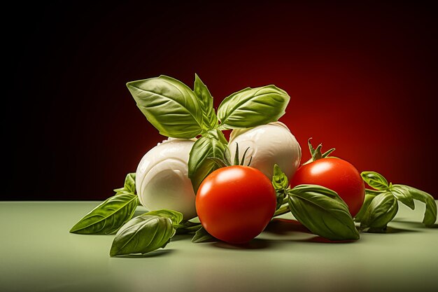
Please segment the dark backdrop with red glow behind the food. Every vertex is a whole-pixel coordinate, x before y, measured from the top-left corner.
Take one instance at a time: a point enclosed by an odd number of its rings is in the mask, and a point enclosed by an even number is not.
[[[437,188],[437,9],[428,2],[125,1],[3,8],[3,200],[102,200],[164,139],[125,83],[160,74],[216,107],[275,84],[306,140]],[[12,80],[10,80],[10,78]]]

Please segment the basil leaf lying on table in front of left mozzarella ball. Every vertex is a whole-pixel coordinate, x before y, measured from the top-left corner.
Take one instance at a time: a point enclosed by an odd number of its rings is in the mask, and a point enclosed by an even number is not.
[[[110,256],[145,254],[166,246],[175,228],[168,217],[141,215],[120,228],[111,245]]]

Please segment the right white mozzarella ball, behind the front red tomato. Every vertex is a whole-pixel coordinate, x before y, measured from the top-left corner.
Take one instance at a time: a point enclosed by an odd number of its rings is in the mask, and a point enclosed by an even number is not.
[[[281,122],[232,130],[228,144],[232,158],[237,144],[239,144],[239,160],[249,147],[245,155],[245,163],[248,163],[252,156],[250,166],[259,169],[269,179],[272,179],[275,164],[290,179],[301,161],[301,147],[297,139]]]

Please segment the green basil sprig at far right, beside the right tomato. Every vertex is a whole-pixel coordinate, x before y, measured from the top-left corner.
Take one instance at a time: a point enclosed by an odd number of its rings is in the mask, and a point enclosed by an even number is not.
[[[355,221],[360,222],[360,230],[383,232],[398,211],[398,202],[414,210],[414,200],[426,205],[423,224],[432,227],[437,221],[437,204],[432,195],[411,186],[388,183],[377,172],[362,172],[362,179],[373,189],[365,189],[365,202]]]

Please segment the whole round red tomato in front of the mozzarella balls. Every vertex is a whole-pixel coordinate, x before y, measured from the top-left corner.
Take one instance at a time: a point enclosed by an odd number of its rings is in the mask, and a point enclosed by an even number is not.
[[[201,183],[196,196],[197,214],[205,230],[232,244],[250,242],[259,235],[275,209],[271,181],[253,167],[216,169]]]

